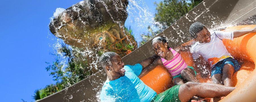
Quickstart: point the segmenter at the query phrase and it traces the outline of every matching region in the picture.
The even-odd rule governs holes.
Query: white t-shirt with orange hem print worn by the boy
[[[210,66],[214,66],[223,59],[232,57],[228,50],[225,48],[222,39],[233,40],[233,32],[213,31],[211,33],[211,41],[208,43],[196,42],[191,46],[190,52],[193,59],[203,56],[203,58],[209,62]],[[233,58],[233,57],[232,57]]]

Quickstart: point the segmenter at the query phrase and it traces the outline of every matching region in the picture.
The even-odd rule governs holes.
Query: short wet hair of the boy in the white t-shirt
[[[193,37],[194,39],[197,38],[197,34],[202,31],[206,26],[202,24],[201,22],[195,22],[190,25],[189,27],[189,33],[190,36]]]

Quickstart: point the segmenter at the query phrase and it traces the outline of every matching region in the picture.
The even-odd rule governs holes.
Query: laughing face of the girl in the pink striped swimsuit
[[[152,47],[156,53],[156,55],[160,56],[161,58],[165,58],[166,57],[166,53],[168,52],[168,44],[163,43],[163,42],[155,42],[152,44]]]

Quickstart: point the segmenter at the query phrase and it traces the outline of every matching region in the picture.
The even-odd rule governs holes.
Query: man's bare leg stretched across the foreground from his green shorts
[[[200,97],[223,97],[232,92],[235,87],[229,87],[214,83],[187,82],[179,88],[179,99],[181,102],[188,101],[193,96]]]

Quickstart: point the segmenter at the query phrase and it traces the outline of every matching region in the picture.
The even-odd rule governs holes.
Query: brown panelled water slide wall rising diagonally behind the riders
[[[165,29],[158,35],[172,38],[169,46],[174,47],[189,41],[189,26],[193,22],[202,22],[208,28],[216,29],[235,24],[256,25],[255,22],[246,22],[256,15],[255,0],[204,0],[197,7],[193,8],[177,22]],[[254,18],[255,19],[255,18]],[[252,23],[252,24],[251,24]],[[125,64],[136,64],[154,54],[151,41],[146,42],[122,60]],[[89,76],[88,78],[66,88],[60,92],[50,95],[39,102],[94,102],[98,101],[97,95],[100,94],[101,87],[106,80],[104,70]],[[230,98],[232,99],[232,98]],[[226,100],[236,101],[236,100]]]

